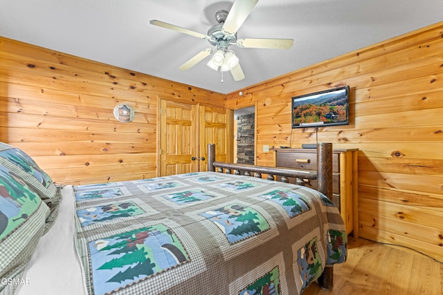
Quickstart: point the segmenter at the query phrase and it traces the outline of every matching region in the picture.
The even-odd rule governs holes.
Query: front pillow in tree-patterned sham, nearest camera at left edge
[[[12,294],[21,280],[49,208],[14,171],[0,165],[0,294]]]

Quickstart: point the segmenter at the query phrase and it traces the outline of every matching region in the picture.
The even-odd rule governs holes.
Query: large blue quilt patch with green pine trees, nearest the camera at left
[[[93,290],[105,294],[177,267],[189,260],[186,249],[164,225],[89,242]]]

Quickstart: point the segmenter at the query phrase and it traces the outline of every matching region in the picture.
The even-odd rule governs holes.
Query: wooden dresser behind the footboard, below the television
[[[316,149],[274,149],[274,166],[301,170],[317,169]],[[340,209],[346,232],[359,236],[358,227],[358,149],[340,149],[332,153],[332,202]],[[296,179],[289,179],[296,183]],[[316,180],[305,180],[305,187],[317,189]]]

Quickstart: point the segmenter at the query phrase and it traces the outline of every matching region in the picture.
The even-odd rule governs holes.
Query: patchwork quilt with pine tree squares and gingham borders
[[[89,294],[301,294],[347,256],[338,209],[295,184],[201,172],[73,191]]]

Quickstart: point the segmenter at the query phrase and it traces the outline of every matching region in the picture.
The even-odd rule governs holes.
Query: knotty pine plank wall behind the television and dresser
[[[344,85],[349,126],[291,130],[292,96]],[[360,236],[443,261],[443,22],[240,90],[226,107],[257,105],[257,164],[264,144],[358,148]]]

